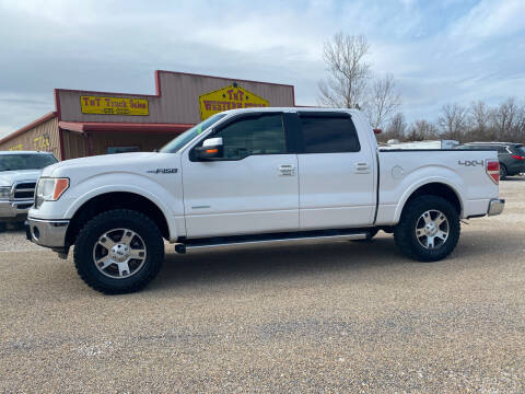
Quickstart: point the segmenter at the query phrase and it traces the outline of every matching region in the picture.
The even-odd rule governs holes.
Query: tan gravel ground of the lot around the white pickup
[[[117,297],[0,234],[22,251],[0,252],[0,391],[524,393],[525,182],[501,194],[505,212],[463,225],[441,263],[385,234],[170,247],[147,290]]]

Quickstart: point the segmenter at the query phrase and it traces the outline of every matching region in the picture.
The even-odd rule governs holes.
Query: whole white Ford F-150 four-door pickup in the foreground
[[[105,293],[143,288],[164,240],[175,251],[394,233],[409,257],[446,257],[459,220],[499,215],[494,151],[378,151],[352,109],[217,114],[151,153],[68,160],[44,170],[27,236]]]

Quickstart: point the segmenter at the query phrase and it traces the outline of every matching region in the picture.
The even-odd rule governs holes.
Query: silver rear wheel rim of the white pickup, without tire
[[[416,237],[419,244],[428,250],[443,246],[448,232],[448,220],[443,212],[435,209],[424,211],[416,222]]]

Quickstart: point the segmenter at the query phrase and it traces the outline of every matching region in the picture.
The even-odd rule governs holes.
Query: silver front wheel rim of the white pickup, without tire
[[[93,263],[105,276],[125,279],[137,274],[147,257],[142,237],[129,229],[114,229],[104,233],[93,247]]]

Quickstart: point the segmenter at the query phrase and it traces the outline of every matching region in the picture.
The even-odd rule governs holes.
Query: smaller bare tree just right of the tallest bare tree
[[[372,127],[383,127],[399,109],[401,97],[396,89],[393,74],[386,74],[372,83],[364,112]]]

